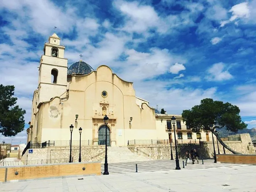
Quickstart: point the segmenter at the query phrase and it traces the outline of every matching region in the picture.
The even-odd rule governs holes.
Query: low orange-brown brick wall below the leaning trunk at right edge
[[[222,163],[234,164],[254,164],[256,165],[256,155],[240,155],[240,154],[216,154],[217,161]]]

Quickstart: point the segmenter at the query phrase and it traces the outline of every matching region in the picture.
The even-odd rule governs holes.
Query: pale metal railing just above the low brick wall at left
[[[0,162],[0,166],[43,165],[43,164],[55,164],[55,163],[68,163],[68,162],[69,162],[69,158],[2,161]]]

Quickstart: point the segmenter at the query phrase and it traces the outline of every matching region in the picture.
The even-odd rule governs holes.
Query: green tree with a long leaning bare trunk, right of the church
[[[213,101],[211,98],[205,98],[201,100],[200,105],[192,107],[191,110],[183,110],[182,118],[185,119],[186,125],[188,125],[193,132],[198,132],[203,129],[204,131],[211,131],[226,149],[234,154],[238,152],[227,146],[215,133],[214,130],[210,130],[210,125],[218,126],[218,128],[225,127],[232,132],[238,132],[240,129],[247,127],[247,124],[241,122],[239,115],[239,107],[231,105],[230,103],[223,103],[222,101]]]

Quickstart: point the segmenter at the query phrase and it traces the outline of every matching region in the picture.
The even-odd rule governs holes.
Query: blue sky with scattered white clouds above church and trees
[[[256,127],[256,0],[0,0],[0,83],[15,85],[30,121],[44,43],[56,33],[69,65],[105,64],[167,113],[206,97]],[[68,126],[68,125],[67,125]],[[26,132],[1,140],[26,142]]]

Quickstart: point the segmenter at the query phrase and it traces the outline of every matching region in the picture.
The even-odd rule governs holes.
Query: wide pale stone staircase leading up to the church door
[[[127,147],[108,147],[107,150],[108,163],[151,160],[143,154],[137,155],[137,153],[133,153]],[[101,160],[101,163],[105,163],[105,158]]]

